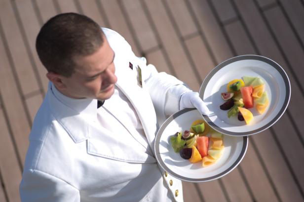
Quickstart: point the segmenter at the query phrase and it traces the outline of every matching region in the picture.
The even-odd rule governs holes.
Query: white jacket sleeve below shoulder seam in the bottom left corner
[[[25,170],[19,189],[21,202],[80,202],[75,187],[38,170]]]

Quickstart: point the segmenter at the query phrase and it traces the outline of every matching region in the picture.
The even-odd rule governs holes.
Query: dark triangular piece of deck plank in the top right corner
[[[302,45],[304,43],[304,7],[300,0],[280,0],[281,7],[292,23]],[[303,46],[302,46],[303,48]]]

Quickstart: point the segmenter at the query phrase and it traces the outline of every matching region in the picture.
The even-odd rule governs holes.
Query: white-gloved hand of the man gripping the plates
[[[182,94],[180,99],[180,110],[185,108],[196,108],[203,115],[210,114],[209,109],[199,97],[198,92],[188,91]]]

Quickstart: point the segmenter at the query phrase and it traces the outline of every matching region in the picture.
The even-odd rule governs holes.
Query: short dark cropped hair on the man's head
[[[48,72],[71,77],[76,56],[94,53],[103,44],[103,31],[87,16],[62,13],[49,19],[40,29],[36,50]]]

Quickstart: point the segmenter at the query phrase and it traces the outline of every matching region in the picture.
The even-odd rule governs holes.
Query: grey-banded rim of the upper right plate
[[[255,130],[251,130],[251,131],[247,131],[247,132],[232,132],[232,131],[225,130],[225,129],[221,128],[220,126],[216,125],[213,121],[211,121],[209,119],[208,115],[202,115],[203,120],[206,121],[213,129],[215,129],[216,131],[218,131],[220,133],[223,133],[226,135],[231,135],[231,136],[248,136],[248,135],[257,134],[257,133],[260,133],[260,132],[266,130],[267,128],[272,126],[276,121],[278,121],[281,118],[281,116],[283,116],[284,112],[286,111],[286,109],[288,107],[288,104],[290,101],[290,96],[291,96],[291,85],[290,85],[289,78],[288,78],[286,72],[284,71],[284,69],[278,63],[276,63],[275,61],[273,61],[265,56],[261,56],[261,55],[240,55],[240,56],[232,57],[232,58],[229,58],[228,60],[225,60],[224,62],[220,63],[219,65],[217,65],[215,68],[213,68],[209,72],[209,74],[207,75],[207,77],[204,79],[203,83],[200,86],[199,97],[201,99],[203,99],[205,88],[206,88],[208,82],[213,77],[213,75],[215,75],[220,69],[227,66],[228,64],[236,62],[236,61],[240,61],[240,60],[260,60],[260,61],[266,62],[271,67],[275,68],[283,78],[283,81],[284,81],[284,84],[286,87],[286,96],[285,96],[285,100],[284,100],[282,108],[271,121],[269,121],[268,123],[266,123],[264,126],[262,126],[260,128],[257,128]]]

